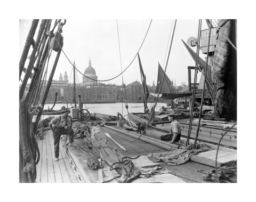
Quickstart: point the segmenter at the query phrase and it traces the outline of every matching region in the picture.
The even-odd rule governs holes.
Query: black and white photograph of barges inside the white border
[[[236,183],[236,27],[20,19],[20,182]]]

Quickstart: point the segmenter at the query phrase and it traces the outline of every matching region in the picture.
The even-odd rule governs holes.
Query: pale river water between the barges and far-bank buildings
[[[151,106],[153,107],[154,103],[148,103],[148,107],[150,108]],[[51,108],[53,104],[45,104],[44,109]],[[54,110],[59,110],[62,106],[67,107],[67,104],[65,103],[59,103],[55,104]],[[122,106],[123,106],[123,111],[122,111]],[[156,111],[159,111],[159,108],[165,106],[166,103],[157,103],[156,106]],[[71,105],[69,104],[69,108]],[[83,104],[83,108],[88,108],[89,112],[93,114],[94,112],[101,113],[101,114],[107,114],[107,115],[113,115],[116,116],[117,112],[121,113],[123,112],[123,116],[127,115],[127,110],[125,108],[125,104],[123,103],[95,103],[95,104]],[[128,111],[129,112],[143,112],[144,106],[143,103],[128,103]],[[42,118],[46,118],[47,115],[42,115]]]

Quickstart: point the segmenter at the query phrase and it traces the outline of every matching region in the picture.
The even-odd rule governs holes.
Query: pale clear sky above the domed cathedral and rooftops
[[[32,20],[19,20],[20,56],[26,42],[31,21]],[[121,73],[121,61],[123,70],[131,63],[142,44],[149,23],[150,19],[67,19],[66,25],[62,28],[62,36],[64,38],[63,51],[70,61],[75,61],[76,68],[81,72],[84,72],[85,68],[88,67],[89,60],[91,59],[92,67],[95,69],[98,79],[110,79]],[[172,32],[170,35],[171,28]],[[153,82],[155,82],[155,84],[157,83],[158,62],[163,69],[166,66],[173,28],[174,20],[172,19],[153,19],[151,22],[145,42],[139,51],[148,85],[152,85]],[[206,22],[203,20],[202,30],[207,28]],[[195,66],[194,60],[189,55],[181,42],[181,39],[187,42],[189,37],[197,37],[197,30],[198,20],[177,20],[170,58],[166,69],[167,76],[171,80],[173,79],[176,85],[181,85],[181,82],[188,84],[187,66]],[[121,61],[119,56],[118,31]],[[34,38],[36,38],[36,35]],[[167,47],[168,42],[169,46]],[[192,49],[196,52],[196,47],[192,47]],[[54,55],[56,54],[57,53],[55,52]],[[205,55],[201,54],[201,57],[204,59]],[[51,67],[52,64],[53,62],[50,59],[49,67]],[[65,71],[67,71],[69,82],[73,82],[73,74],[71,75],[71,70],[71,64],[66,56],[61,53],[53,79],[58,80],[60,73],[63,76]],[[135,80],[138,80],[141,83],[138,57],[135,58],[131,66],[123,74],[123,81],[125,84],[132,83]],[[78,82],[82,82],[82,75],[79,74],[79,72]],[[102,83],[121,85],[122,76]]]

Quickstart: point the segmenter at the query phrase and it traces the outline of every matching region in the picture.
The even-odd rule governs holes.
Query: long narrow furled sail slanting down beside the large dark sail
[[[188,52],[191,55],[191,57],[193,58],[193,60],[196,62],[196,53],[192,49],[190,49],[190,47],[183,40],[181,40],[181,41],[185,45],[186,49],[188,50]],[[199,71],[201,71],[202,74],[205,75],[206,62],[202,58],[198,57],[198,64],[199,64]],[[212,77],[211,77],[211,73],[210,73],[210,68],[207,68],[207,69],[208,69],[208,71],[206,73],[206,85],[209,90],[209,94],[210,94],[212,100],[214,101],[216,93],[214,92],[213,87],[212,87]]]

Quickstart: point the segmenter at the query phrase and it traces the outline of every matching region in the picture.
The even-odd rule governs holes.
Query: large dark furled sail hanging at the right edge
[[[237,120],[236,20],[220,20],[218,27],[212,70],[217,83],[215,116]]]

